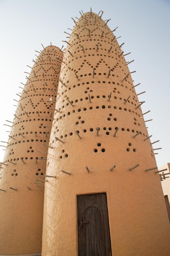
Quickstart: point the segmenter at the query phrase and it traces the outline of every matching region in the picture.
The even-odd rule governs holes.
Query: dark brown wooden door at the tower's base
[[[79,256],[112,256],[106,193],[78,195]]]

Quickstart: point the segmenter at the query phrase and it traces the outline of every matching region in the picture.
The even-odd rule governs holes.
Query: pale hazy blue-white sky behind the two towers
[[[0,141],[7,141],[9,130],[5,120],[13,121],[16,101],[21,92],[18,86],[25,83],[24,72],[29,72],[35,50],[53,45],[62,47],[64,31],[74,26],[71,17],[83,12],[104,11],[102,18],[110,19],[111,30],[118,26],[115,35],[121,36],[124,52],[131,52],[130,64],[136,92],[143,112],[150,110],[145,119],[148,133],[157,150],[157,166],[170,162],[170,0],[0,0]],[[5,143],[0,142],[1,145]],[[156,146],[155,146],[156,145]],[[0,147],[0,161],[4,150]]]

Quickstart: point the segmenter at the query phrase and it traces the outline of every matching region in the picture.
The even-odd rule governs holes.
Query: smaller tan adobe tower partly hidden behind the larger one
[[[0,255],[41,253],[44,175],[62,57],[58,47],[44,48],[9,123],[0,169]]]

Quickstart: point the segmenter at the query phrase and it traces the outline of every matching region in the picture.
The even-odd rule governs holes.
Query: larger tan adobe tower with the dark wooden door
[[[89,12],[75,23],[47,157],[55,178],[45,184],[42,256],[168,256],[170,223],[132,72],[102,18]]]

